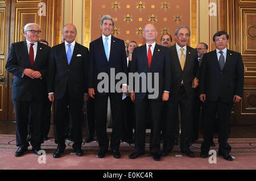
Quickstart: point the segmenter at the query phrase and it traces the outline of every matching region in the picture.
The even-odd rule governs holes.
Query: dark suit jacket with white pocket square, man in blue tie
[[[73,100],[81,100],[87,87],[88,48],[75,44],[71,62],[68,65],[65,43],[52,47],[49,62],[48,92],[54,92],[55,99],[63,98],[68,89]]]

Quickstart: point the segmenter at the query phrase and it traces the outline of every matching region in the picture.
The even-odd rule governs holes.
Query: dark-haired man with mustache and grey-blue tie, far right
[[[215,33],[213,41],[216,50],[204,54],[200,71],[200,100],[205,103],[201,158],[208,157],[217,111],[218,155],[233,161],[228,144],[229,120],[233,104],[240,102],[243,94],[243,62],[240,53],[227,49],[228,33]]]

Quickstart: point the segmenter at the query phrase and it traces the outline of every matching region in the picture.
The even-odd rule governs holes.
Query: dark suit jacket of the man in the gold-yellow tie
[[[195,96],[195,89],[192,88],[192,82],[195,77],[199,77],[199,63],[197,61],[196,49],[187,45],[186,60],[184,69],[181,69],[179,56],[177,54],[176,44],[171,48],[171,92],[176,96],[179,92],[181,81],[183,80],[185,92],[188,98]]]

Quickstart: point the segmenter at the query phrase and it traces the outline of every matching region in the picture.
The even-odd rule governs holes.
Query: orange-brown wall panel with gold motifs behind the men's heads
[[[125,40],[135,40],[144,44],[141,30],[145,24],[155,24],[158,31],[158,43],[162,33],[170,33],[180,25],[190,26],[190,1],[92,1],[91,40],[101,36],[100,18],[109,14],[115,20],[114,36]]]

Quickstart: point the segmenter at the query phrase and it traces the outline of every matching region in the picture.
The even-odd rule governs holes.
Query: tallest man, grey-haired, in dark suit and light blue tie
[[[114,81],[112,89],[114,89],[118,81],[110,80],[110,71],[114,70],[114,76],[118,73],[127,74],[127,62],[125,52],[125,42],[112,36],[114,27],[114,19],[105,15],[101,18],[100,28],[102,36],[90,43],[89,56],[89,96],[95,98],[95,119],[97,140],[100,146],[98,158],[105,157],[109,148],[109,138],[106,133],[108,98],[113,115],[113,128],[111,135],[110,148],[114,158],[120,158],[119,145],[122,134],[122,93],[117,90],[110,90],[111,81]],[[105,73],[109,77],[109,85],[105,85],[105,90],[98,89],[98,79],[100,73]],[[105,81],[105,80],[104,80]],[[121,90],[121,87],[120,89]],[[122,92],[127,91],[127,82],[122,84]]]

